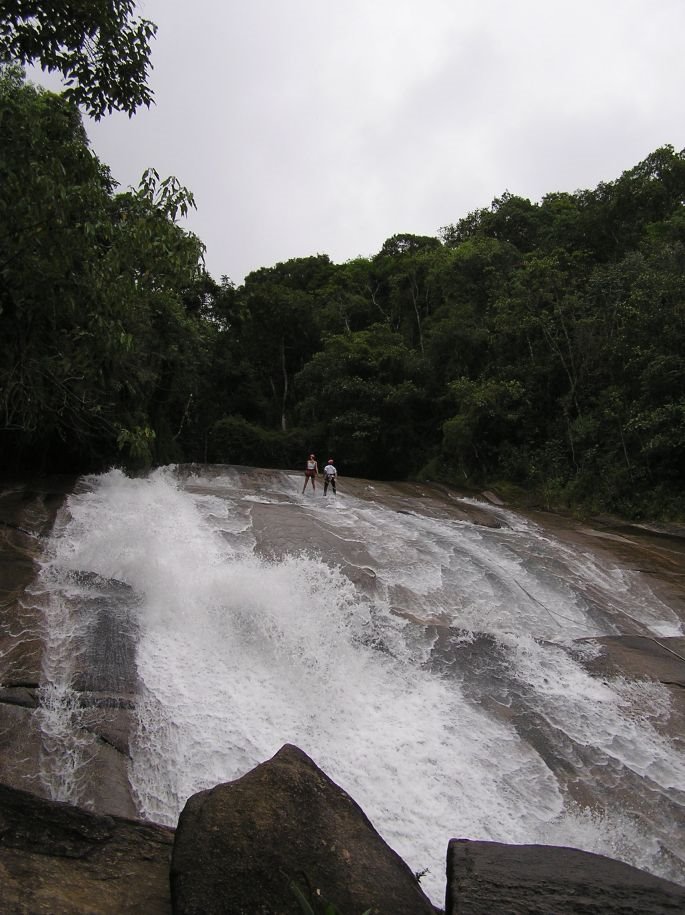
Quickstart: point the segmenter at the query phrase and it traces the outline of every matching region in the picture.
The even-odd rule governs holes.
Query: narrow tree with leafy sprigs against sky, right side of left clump
[[[147,172],[137,192],[111,202],[112,245],[101,254],[98,274],[103,303],[111,302],[129,335],[126,356],[110,366],[119,422],[127,427],[144,419],[155,434],[151,457],[162,463],[182,459],[176,442],[195,412],[211,358],[212,326],[194,307],[207,288],[204,246],[175,223],[193,205],[176,179]]]

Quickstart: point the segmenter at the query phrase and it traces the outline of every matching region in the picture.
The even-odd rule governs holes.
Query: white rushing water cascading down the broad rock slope
[[[429,870],[438,903],[453,836],[572,845],[685,883],[668,693],[593,677],[570,650],[679,635],[674,612],[504,509],[490,527],[420,499],[390,507],[382,487],[300,487],[232,468],[80,482],[39,579],[54,793],[78,800],[74,676],[97,625],[91,642],[102,627],[135,638],[144,817],[174,825],[191,794],[287,742]]]

